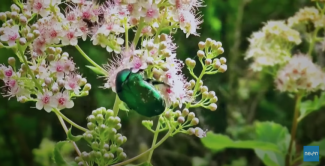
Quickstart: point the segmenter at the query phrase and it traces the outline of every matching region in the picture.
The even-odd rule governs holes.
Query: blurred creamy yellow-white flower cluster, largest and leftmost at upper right
[[[301,43],[298,31],[291,29],[284,21],[269,21],[261,31],[252,34],[245,59],[254,60],[255,71],[263,67],[282,65],[289,61],[291,49]]]

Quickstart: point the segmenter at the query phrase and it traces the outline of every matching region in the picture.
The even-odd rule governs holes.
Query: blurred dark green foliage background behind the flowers
[[[10,9],[11,0],[1,0],[0,12]],[[286,94],[275,91],[273,79],[261,73],[248,70],[249,62],[243,59],[248,47],[247,38],[259,30],[263,22],[286,19],[299,8],[311,6],[309,0],[207,0],[206,8],[201,8],[204,23],[198,31],[201,36],[188,39],[179,31],[175,35],[178,44],[177,54],[182,60],[194,58],[197,43],[212,38],[223,43],[228,71],[223,74],[207,76],[204,83],[214,90],[219,98],[215,112],[199,108],[194,111],[200,119],[200,127],[216,133],[228,134],[233,139],[252,137],[254,121],[275,121],[291,127],[293,100]],[[94,61],[106,63],[111,57],[99,46],[89,41],[80,47]],[[112,108],[114,93],[100,89],[104,83],[92,71],[85,68],[88,62],[73,47],[64,51],[74,58],[79,71],[91,83],[93,89],[89,96],[75,100],[75,107],[63,113],[76,123],[86,126],[86,116],[98,107]],[[304,51],[304,50],[302,50]],[[319,53],[319,56],[324,56]],[[0,63],[14,56],[11,50],[0,50]],[[324,64],[323,64],[324,65]],[[200,72],[200,67],[195,72]],[[184,73],[190,76],[184,69]],[[3,86],[3,83],[0,83]],[[20,104],[16,99],[0,97],[0,166],[51,165],[52,141],[66,139],[66,135],[53,113],[39,111],[35,103]],[[141,125],[144,118],[134,112],[120,112],[122,129],[127,136],[124,151],[129,157],[146,150],[152,141],[152,133]],[[325,137],[325,110],[309,115],[298,127],[298,145],[304,145]],[[75,129],[74,134],[80,134]],[[86,144],[80,145],[87,149]],[[298,146],[299,148],[299,146]],[[301,148],[301,147],[300,147]],[[66,156],[75,156],[71,147],[64,148]],[[324,161],[323,161],[324,163]],[[153,155],[155,166],[262,166],[253,150],[227,149],[213,153],[203,147],[199,138],[178,134],[169,138]],[[324,164],[323,164],[324,165]]]

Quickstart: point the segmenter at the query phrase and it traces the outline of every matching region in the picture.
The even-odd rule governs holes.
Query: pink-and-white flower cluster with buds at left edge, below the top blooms
[[[61,48],[49,47],[47,56],[36,58],[29,65],[23,63],[19,69],[16,69],[15,58],[10,57],[10,66],[0,65],[0,79],[6,88],[4,96],[17,97],[22,103],[36,101],[36,108],[47,112],[72,108],[71,98],[87,96],[91,85],[76,72],[69,54],[61,52]]]

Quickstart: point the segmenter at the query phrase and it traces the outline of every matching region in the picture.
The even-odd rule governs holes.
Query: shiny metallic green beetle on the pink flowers
[[[153,117],[164,112],[166,104],[154,85],[165,85],[163,82],[146,79],[131,69],[117,73],[115,79],[116,93],[127,108],[146,117]]]

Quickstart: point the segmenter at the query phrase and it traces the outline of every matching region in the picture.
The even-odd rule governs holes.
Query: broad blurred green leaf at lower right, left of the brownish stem
[[[284,166],[285,155],[287,154],[290,143],[288,129],[274,122],[257,122],[255,126],[256,140],[273,143],[281,152],[275,153],[270,150],[255,149],[256,155],[267,166]]]

